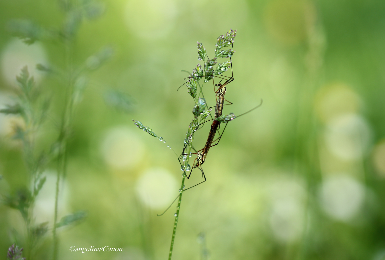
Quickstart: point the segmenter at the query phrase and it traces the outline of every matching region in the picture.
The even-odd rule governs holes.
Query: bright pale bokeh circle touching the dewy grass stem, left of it
[[[163,209],[177,195],[176,179],[166,169],[148,169],[137,180],[136,192],[144,205]]]

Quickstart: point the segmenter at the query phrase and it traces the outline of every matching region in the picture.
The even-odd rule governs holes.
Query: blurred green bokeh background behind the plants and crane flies
[[[73,64],[92,62],[104,46],[112,58],[87,75],[60,184],[59,219],[87,218],[59,230],[59,259],[166,259],[174,223],[181,153],[194,102],[176,89],[199,62],[196,42],[213,56],[219,35],[237,29],[235,80],[224,114],[257,110],[229,122],[203,165],[208,181],[184,193],[173,259],[385,259],[385,2],[380,0],[106,0],[104,14],[85,20]],[[15,76],[28,65],[51,97],[37,148],[57,138],[65,84],[35,69],[65,67],[54,41],[24,44],[12,19],[60,27],[57,1],[0,2],[0,105],[15,97]],[[91,57],[91,58],[89,58]],[[231,72],[226,72],[231,75]],[[215,104],[211,85],[204,94]],[[118,91],[118,92],[109,92]],[[127,98],[125,112],[108,93]],[[107,101],[107,102],[106,102]],[[162,136],[137,129],[131,119]],[[28,186],[23,150],[12,139],[15,116],[0,117],[2,195]],[[204,146],[209,127],[194,146]],[[194,158],[194,157],[193,157]],[[54,218],[55,163],[33,208],[36,223]],[[194,171],[186,187],[201,181]],[[0,206],[0,255],[23,244],[17,210]],[[200,234],[200,235],[199,235]],[[204,239],[203,239],[204,237]],[[122,247],[122,252],[70,252]],[[206,253],[208,252],[208,253]],[[51,230],[35,259],[51,259]]]

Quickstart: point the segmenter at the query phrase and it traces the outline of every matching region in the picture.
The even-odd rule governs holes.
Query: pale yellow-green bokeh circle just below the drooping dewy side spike
[[[131,169],[141,163],[144,144],[129,127],[113,127],[102,140],[101,153],[110,167]]]

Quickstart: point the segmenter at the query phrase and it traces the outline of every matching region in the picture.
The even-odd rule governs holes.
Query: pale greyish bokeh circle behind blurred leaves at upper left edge
[[[16,76],[24,66],[36,82],[39,82],[43,72],[36,69],[36,64],[47,66],[47,53],[40,42],[27,45],[19,39],[12,39],[2,50],[1,70],[5,81],[12,86],[17,86]]]

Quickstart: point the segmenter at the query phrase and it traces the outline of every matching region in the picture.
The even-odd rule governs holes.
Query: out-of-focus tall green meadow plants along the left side
[[[65,96],[62,97],[64,99],[62,116],[59,120],[53,119],[59,122],[57,139],[46,151],[37,149],[36,142],[39,141],[37,136],[41,134],[40,127],[49,114],[50,96],[55,93],[42,93],[39,87],[35,86],[34,78],[29,75],[27,66],[23,67],[20,75],[17,76],[19,88],[15,90],[18,97],[15,104],[9,104],[0,111],[7,115],[21,116],[23,119],[22,122],[13,126],[12,138],[22,143],[29,187],[20,188],[15,195],[4,195],[4,201],[6,205],[20,211],[25,221],[28,260],[33,259],[33,252],[39,239],[48,231],[49,223],[35,223],[35,216],[33,216],[35,199],[46,181],[44,171],[47,165],[54,164],[57,168],[55,204],[52,205],[54,209],[53,259],[58,257],[58,228],[79,222],[86,216],[84,211],[78,211],[58,221],[59,184],[61,178],[65,178],[66,175],[67,143],[72,136],[72,122],[76,108],[82,100],[87,85],[86,76],[89,72],[98,69],[112,55],[112,49],[105,47],[99,53],[88,57],[82,64],[75,64],[74,42],[80,26],[84,20],[100,17],[104,6],[93,0],[59,0],[58,3],[64,13],[64,20],[59,28],[44,28],[29,20],[12,20],[8,23],[10,32],[22,39],[25,44],[33,44],[35,41],[55,42],[65,56],[65,67],[36,64],[38,70],[49,74],[59,85],[64,82],[66,87]]]

